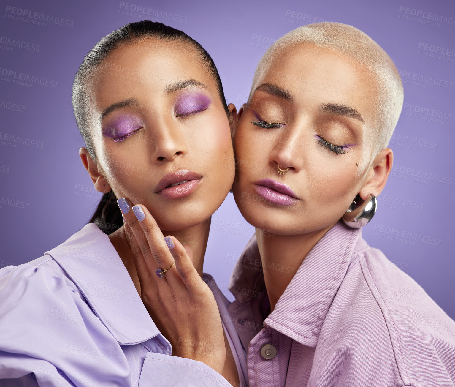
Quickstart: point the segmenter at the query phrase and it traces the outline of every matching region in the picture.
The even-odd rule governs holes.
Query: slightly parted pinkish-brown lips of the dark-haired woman
[[[182,198],[192,193],[201,179],[202,175],[200,173],[188,171],[187,169],[179,169],[176,172],[166,173],[157,184],[155,193],[169,199]],[[170,184],[175,184],[183,180],[188,181],[174,187],[166,188]]]

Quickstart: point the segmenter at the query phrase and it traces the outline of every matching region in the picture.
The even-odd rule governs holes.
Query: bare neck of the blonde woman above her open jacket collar
[[[275,309],[279,298],[310,250],[334,225],[298,235],[270,235],[256,229],[270,312]]]

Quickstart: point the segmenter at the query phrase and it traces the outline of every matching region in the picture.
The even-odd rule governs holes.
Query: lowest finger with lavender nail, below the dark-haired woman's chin
[[[199,282],[199,280],[201,280],[201,277],[197,273],[197,270],[195,269],[188,254],[189,252],[192,255],[191,246],[189,244],[185,244],[185,247],[183,247],[177,238],[173,237],[172,235],[168,235],[164,239],[169,248],[169,251],[172,254],[172,257],[175,260],[177,273],[180,275],[180,278],[188,289],[193,288]]]

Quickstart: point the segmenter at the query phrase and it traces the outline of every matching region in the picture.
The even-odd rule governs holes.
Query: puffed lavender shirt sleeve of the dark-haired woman
[[[63,276],[29,264],[0,270],[0,379],[19,379],[11,386],[131,385],[125,354],[90,306]]]

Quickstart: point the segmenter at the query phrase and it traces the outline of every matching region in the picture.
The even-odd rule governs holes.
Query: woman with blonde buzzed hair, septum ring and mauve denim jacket
[[[362,238],[402,105],[394,63],[350,25],[299,27],[259,62],[233,183],[256,234],[228,308],[251,387],[455,385],[455,322]]]

